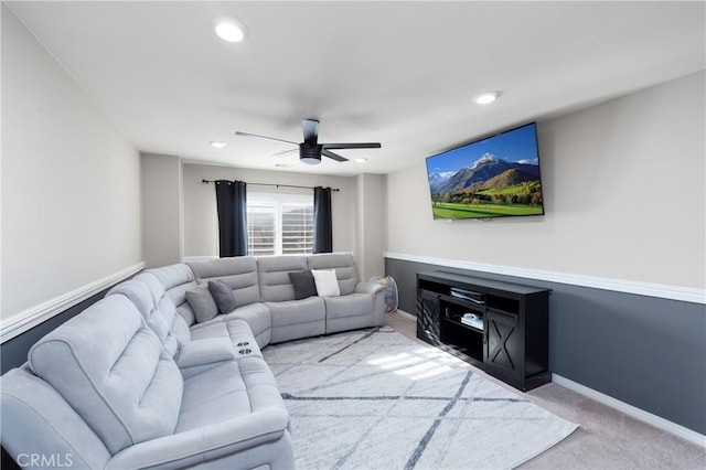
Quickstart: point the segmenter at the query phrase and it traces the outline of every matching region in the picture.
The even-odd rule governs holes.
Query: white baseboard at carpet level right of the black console
[[[653,415],[652,413],[648,413],[644,409],[637,408],[624,402],[616,399],[612,396],[605,395],[600,392],[597,392],[592,388],[587,387],[586,385],[581,385],[577,382],[563,377],[558,374],[552,374],[552,382],[554,382],[557,385],[561,385],[563,387],[566,387],[568,389],[571,389],[576,393],[579,393],[584,396],[587,396],[591,399],[595,399],[596,402],[601,403],[606,406],[609,406],[613,409],[617,409],[620,413],[623,413],[632,418],[635,418],[640,421],[652,425],[655,428],[671,432],[675,436],[681,437],[682,439],[688,440],[689,442],[696,444],[698,446],[706,447],[706,436],[704,436],[703,434],[685,428],[684,426],[677,425],[676,423],[672,423],[668,419],[664,419],[660,416]]]

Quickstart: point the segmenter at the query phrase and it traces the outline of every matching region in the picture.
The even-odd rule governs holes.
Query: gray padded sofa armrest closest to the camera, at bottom
[[[275,441],[285,434],[288,423],[284,408],[264,407],[249,415],[130,446],[116,453],[106,469],[191,467]]]

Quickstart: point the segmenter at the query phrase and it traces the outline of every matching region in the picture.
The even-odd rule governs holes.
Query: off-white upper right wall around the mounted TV
[[[389,253],[704,288],[704,72],[538,122],[545,216],[434,221],[425,156],[387,177]]]

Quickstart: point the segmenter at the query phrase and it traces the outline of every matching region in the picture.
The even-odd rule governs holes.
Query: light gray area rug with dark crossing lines
[[[263,353],[300,470],[509,469],[578,427],[387,327]]]

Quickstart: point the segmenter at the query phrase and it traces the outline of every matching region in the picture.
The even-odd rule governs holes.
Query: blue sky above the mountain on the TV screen
[[[470,167],[486,153],[509,162],[539,164],[535,124],[429,157],[427,171],[429,174],[456,173],[463,167]]]

